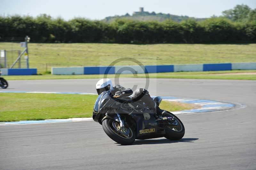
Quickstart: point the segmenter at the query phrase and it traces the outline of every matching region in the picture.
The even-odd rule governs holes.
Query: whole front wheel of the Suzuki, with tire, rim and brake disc
[[[125,126],[120,127],[120,123],[113,119],[102,121],[102,128],[113,141],[122,145],[130,145],[135,141],[136,134],[132,128]]]

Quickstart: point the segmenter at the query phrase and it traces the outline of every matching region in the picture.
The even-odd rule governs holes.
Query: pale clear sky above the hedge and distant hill
[[[196,18],[220,16],[222,11],[246,4],[256,8],[256,0],[0,0],[0,15],[30,15],[46,13],[65,20],[74,17],[104,19],[108,16],[144,11],[187,15]]]

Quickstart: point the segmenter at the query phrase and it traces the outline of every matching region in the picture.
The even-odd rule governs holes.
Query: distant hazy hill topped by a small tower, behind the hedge
[[[155,13],[155,12],[147,12],[144,11],[143,8],[140,8],[139,12],[133,12],[132,15],[130,15],[129,13],[126,13],[125,15],[116,15],[116,16],[110,16],[110,17],[106,17],[105,19],[103,19],[102,21],[104,22],[108,22],[111,23],[113,22],[115,19],[134,19],[134,20],[140,20],[140,21],[149,21],[149,20],[155,20],[155,21],[164,21],[166,19],[172,19],[173,21],[177,21],[177,22],[181,22],[183,20],[187,20],[187,19],[194,19],[196,21],[201,21],[204,20],[206,18],[194,18],[194,17],[188,17],[188,16],[178,16],[178,15],[172,15],[172,14],[164,14],[164,13]]]

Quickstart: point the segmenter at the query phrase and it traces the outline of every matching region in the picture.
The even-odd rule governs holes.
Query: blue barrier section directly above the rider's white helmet
[[[107,72],[106,72],[107,71]],[[84,67],[84,74],[115,74],[115,67]]]

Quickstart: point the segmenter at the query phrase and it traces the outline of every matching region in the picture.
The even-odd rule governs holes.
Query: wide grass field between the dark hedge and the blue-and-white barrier
[[[256,44],[29,43],[28,47],[30,68],[37,68],[38,73],[60,66],[108,66],[120,57],[136,58],[143,65],[256,62]],[[0,49],[21,47],[19,43],[0,43]]]

